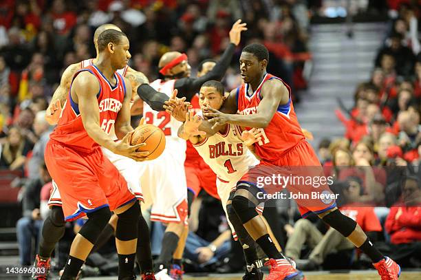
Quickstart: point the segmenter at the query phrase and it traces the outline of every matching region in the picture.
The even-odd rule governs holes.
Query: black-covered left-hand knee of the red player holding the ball
[[[99,210],[88,213],[87,222],[79,230],[79,234],[85,237],[91,244],[95,244],[102,230],[107,226],[111,218],[109,207],[103,207]]]

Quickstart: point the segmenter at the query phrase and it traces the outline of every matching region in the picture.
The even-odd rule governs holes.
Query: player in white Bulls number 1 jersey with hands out
[[[261,133],[256,129],[243,131],[233,125],[226,125],[215,135],[206,137],[206,133],[197,131],[202,122],[202,113],[207,108],[218,109],[224,103],[224,86],[215,80],[204,83],[199,91],[199,106],[202,112],[193,116],[193,111],[186,114],[186,122],[180,127],[180,138],[190,140],[193,147],[204,159],[210,168],[217,174],[217,191],[221,197],[222,206],[226,213],[230,228],[237,233],[243,246],[244,255],[248,264],[248,270],[243,279],[261,280],[263,273],[259,270],[263,263],[259,261],[255,250],[255,242],[246,232],[233,209],[230,208],[230,193],[235,191],[237,182],[248,172],[250,166],[259,164],[259,160],[253,155],[248,147],[261,140]],[[199,135],[197,135],[199,134]],[[228,206],[228,207],[227,207]],[[268,227],[268,229],[270,229]],[[237,237],[237,236],[235,236]],[[274,239],[274,237],[272,237]],[[245,246],[247,244],[250,246]],[[276,239],[274,239],[276,240]]]

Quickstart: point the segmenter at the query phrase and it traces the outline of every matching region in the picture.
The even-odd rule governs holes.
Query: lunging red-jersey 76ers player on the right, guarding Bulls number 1
[[[290,87],[280,78],[266,72],[268,59],[268,50],[263,45],[252,44],[244,47],[239,60],[244,84],[231,91],[221,111],[209,108],[212,112],[205,116],[212,120],[202,122],[200,130],[212,135],[226,123],[247,129],[256,127],[261,130],[263,136],[261,142],[255,143],[255,153],[261,158],[258,168],[264,169],[265,166],[321,168],[316,153],[305,141],[296,118]],[[237,111],[239,114],[236,114]],[[296,186],[292,186],[290,191],[294,191],[294,188]],[[321,186],[319,192],[328,191],[326,188],[327,186]],[[271,258],[268,262],[271,270],[266,279],[303,279],[302,272],[292,268],[285,257],[277,251],[269,238],[265,224],[254,211],[254,207],[262,201],[258,197],[259,193],[261,189],[244,177],[237,184],[232,206],[248,233]],[[338,230],[371,257],[382,279],[398,278],[400,274],[398,264],[382,255],[371,244],[360,226],[338,210],[333,199],[312,200],[311,204],[306,200],[296,200],[296,202],[304,217],[310,212],[316,213],[325,223]]]

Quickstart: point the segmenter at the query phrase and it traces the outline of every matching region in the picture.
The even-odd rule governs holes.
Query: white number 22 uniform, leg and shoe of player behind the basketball
[[[174,90],[175,80],[155,80],[151,83],[156,91],[171,94]],[[165,111],[154,111],[147,103],[143,105],[143,117],[147,123],[160,127],[165,134],[165,149],[159,158],[142,164],[143,170],[140,182],[142,186],[149,186],[152,200],[151,220],[167,224],[164,234],[165,239],[170,239],[171,244],[177,245],[177,240],[187,226],[187,186],[184,172],[186,159],[186,141],[177,136],[177,131],[182,122],[175,120]],[[158,277],[169,277],[161,270],[169,269],[173,250],[168,250],[164,241],[161,255],[158,258],[155,272]],[[164,278],[165,277],[165,278]]]

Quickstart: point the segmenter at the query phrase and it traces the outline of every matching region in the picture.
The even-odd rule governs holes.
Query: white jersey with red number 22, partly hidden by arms
[[[164,80],[158,79],[149,85],[156,91],[160,91],[171,97],[174,84],[175,80],[165,82]],[[166,111],[154,111],[147,103],[143,103],[143,117],[147,123],[155,125],[164,131],[166,140],[164,153],[166,151],[173,151],[176,154],[182,153],[184,157],[186,156],[186,140],[177,136],[178,129],[183,124],[182,122],[175,120]]]

